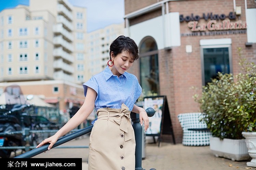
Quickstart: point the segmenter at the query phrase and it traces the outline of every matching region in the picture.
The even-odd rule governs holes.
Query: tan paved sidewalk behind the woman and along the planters
[[[89,136],[85,135],[63,144],[63,146],[88,146]],[[82,169],[87,170],[88,148],[54,148],[46,153],[41,153],[33,158],[82,158]],[[247,167],[248,161],[232,161],[221,157],[215,157],[209,146],[188,147],[182,144],[162,142],[146,144],[145,158],[142,160],[142,168],[150,170],[246,170],[256,168]]]

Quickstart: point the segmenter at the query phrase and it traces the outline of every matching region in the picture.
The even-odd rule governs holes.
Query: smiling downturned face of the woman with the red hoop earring
[[[114,65],[110,67],[110,70],[114,75],[117,75],[118,77],[121,74],[124,74],[124,72],[127,71],[134,62],[133,57],[128,51],[123,51],[116,56],[114,56],[114,53],[111,52],[111,58],[114,62]]]

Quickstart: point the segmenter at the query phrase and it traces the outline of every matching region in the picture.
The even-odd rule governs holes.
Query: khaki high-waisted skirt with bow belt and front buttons
[[[130,111],[100,108],[90,134],[88,170],[134,170],[135,137]]]

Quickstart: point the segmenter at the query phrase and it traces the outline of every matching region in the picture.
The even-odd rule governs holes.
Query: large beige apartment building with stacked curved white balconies
[[[67,0],[30,0],[0,12],[0,94],[17,84],[65,113],[82,104],[86,8]]]

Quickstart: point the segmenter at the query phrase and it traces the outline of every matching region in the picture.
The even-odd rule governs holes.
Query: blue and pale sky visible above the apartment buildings
[[[124,22],[124,0],[68,1],[74,6],[86,8],[87,32]],[[5,8],[14,8],[18,4],[29,5],[29,0],[0,0],[0,12]]]

